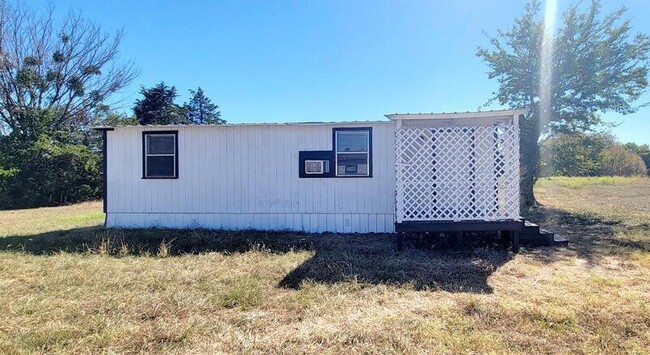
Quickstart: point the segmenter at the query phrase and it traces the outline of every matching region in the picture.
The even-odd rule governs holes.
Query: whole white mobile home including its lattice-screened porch
[[[390,233],[490,222],[517,229],[523,113],[99,127],[106,226]]]

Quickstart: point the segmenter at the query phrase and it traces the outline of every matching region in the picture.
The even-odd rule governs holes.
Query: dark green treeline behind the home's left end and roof
[[[189,102],[176,104],[176,88],[160,83],[141,88],[133,116],[106,105],[90,111],[87,122],[53,129],[56,109],[34,109],[18,117],[22,131],[0,135],[0,209],[55,206],[102,196],[101,139],[98,125],[223,124],[226,121],[201,88]],[[30,127],[33,125],[33,127]]]

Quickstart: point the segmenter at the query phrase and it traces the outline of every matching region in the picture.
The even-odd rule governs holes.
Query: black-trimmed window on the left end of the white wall
[[[143,132],[142,177],[175,179],[178,177],[178,132]]]

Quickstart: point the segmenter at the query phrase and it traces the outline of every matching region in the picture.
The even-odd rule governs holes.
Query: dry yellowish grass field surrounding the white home
[[[645,353],[650,181],[549,178],[567,248],[388,235],[102,230],[0,211],[0,353]]]

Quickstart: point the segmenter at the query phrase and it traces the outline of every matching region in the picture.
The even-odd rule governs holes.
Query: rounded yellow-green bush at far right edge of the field
[[[646,175],[647,168],[641,157],[620,145],[606,147],[600,153],[600,175]]]

